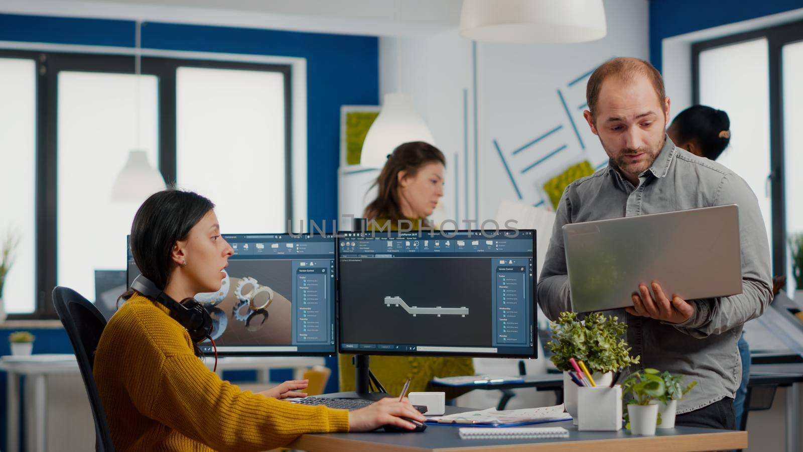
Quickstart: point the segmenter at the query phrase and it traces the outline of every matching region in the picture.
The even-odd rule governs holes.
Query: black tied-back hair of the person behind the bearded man
[[[694,105],[672,120],[670,127],[679,143],[696,142],[703,157],[716,160],[731,142],[728,113],[705,105]]]

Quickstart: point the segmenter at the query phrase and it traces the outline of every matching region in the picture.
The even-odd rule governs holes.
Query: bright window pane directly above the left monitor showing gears
[[[177,184],[217,204],[223,232],[285,232],[284,78],[178,68]]]

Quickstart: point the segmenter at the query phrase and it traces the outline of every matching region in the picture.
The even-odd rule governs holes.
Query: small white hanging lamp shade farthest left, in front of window
[[[114,179],[112,202],[141,203],[148,196],[165,189],[165,179],[148,163],[144,150],[132,150],[128,161]]]

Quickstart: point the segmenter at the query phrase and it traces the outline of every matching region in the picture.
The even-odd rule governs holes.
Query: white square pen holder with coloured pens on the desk
[[[622,386],[577,388],[577,429],[622,429]]]

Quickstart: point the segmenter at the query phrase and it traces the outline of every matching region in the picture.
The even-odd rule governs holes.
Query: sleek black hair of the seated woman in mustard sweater
[[[213,208],[214,203],[202,195],[176,188],[158,191],[145,199],[131,224],[131,253],[142,276],[165,289],[176,265],[171,257],[173,246],[186,240],[195,224]],[[118,303],[133,294],[128,290],[120,295]],[[199,353],[195,347],[195,354]]]

